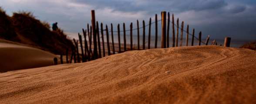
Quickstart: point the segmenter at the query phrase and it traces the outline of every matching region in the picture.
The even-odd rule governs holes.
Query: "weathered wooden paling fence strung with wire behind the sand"
[[[189,33],[189,25],[187,25],[187,29],[184,30],[184,22],[182,21],[181,27],[179,27],[179,18],[177,19],[177,23],[175,24],[174,21],[174,15],[172,14],[172,21],[170,21],[170,13],[168,12],[167,19],[166,19],[166,12],[161,13],[162,19],[158,20],[157,19],[157,14],[155,14],[155,48],[157,48],[157,38],[158,38],[158,22],[162,21],[162,37],[161,37],[161,48],[168,48],[169,47],[169,29],[170,29],[170,23],[172,23],[172,47],[177,47],[178,46],[178,41],[179,41],[179,29],[181,30],[180,32],[180,46],[182,46],[182,39],[183,39],[183,32],[186,33],[186,39],[185,39],[185,46],[188,46],[189,42],[189,35],[192,36],[191,40],[191,46],[194,46],[194,39],[198,40],[198,46],[202,44],[208,45],[209,38],[210,36],[207,36],[207,39],[205,42],[202,42],[202,32],[199,32],[198,38],[195,36],[195,29],[192,30],[192,34]],[[139,42],[139,29],[143,29],[143,34],[142,34],[142,49],[150,49],[150,39],[151,39],[151,25],[153,24],[151,22],[151,18],[149,19],[149,24],[146,25],[149,27],[149,32],[148,32],[148,47],[145,47],[145,21],[143,20],[143,26],[139,27],[139,22],[137,20],[137,28],[133,29],[133,24],[130,24],[130,29],[126,30],[125,29],[125,23],[123,23],[123,31],[120,31],[120,25],[118,24],[117,31],[113,31],[113,25],[111,23],[111,29],[108,29],[108,25],[105,26],[105,29],[103,27],[103,24],[101,23],[101,28],[99,28],[98,21],[95,22],[95,15],[94,15],[94,10],[91,10],[91,17],[92,17],[92,26],[89,27],[89,24],[87,25],[87,29],[82,29],[83,30],[83,37],[84,37],[84,42],[82,41],[82,35],[78,33],[79,37],[79,43],[80,43],[80,50],[79,51],[79,44],[78,40],[73,39],[75,48],[72,49],[72,54],[71,57],[68,57],[68,50],[66,54],[66,62],[71,63],[73,62],[72,59],[74,58],[74,63],[76,62],[87,62],[91,61],[97,58],[105,57],[107,55],[115,54],[117,51],[115,48],[115,42],[114,42],[114,32],[118,33],[118,53],[129,51],[129,50],[140,50],[140,42]],[[166,20],[167,20],[167,28],[166,28]],[[175,27],[176,27],[176,37],[175,37]],[[111,31],[111,40],[109,36],[109,32]],[[137,30],[137,36],[138,36],[138,47],[133,46],[133,39],[132,39],[132,31]],[[107,40],[104,40],[104,31],[105,31],[105,36]],[[130,31],[130,46],[126,46],[126,31]],[[120,42],[120,32],[123,32],[123,37],[124,37],[124,43],[122,44],[123,47],[121,47],[121,42]],[[101,34],[101,36],[100,36]],[[87,39],[88,36],[88,39]],[[101,40],[100,40],[101,37]],[[87,41],[88,40],[88,41]],[[224,46],[229,47],[230,45],[230,40],[231,38],[226,37]],[[101,41],[101,42],[100,42]],[[112,43],[112,44],[110,44]],[[106,48],[105,49],[105,44]],[[216,40],[214,39],[212,41],[211,45],[217,45]],[[93,46],[93,49],[92,49]],[[221,45],[220,45],[221,46]],[[121,50],[123,48],[124,51]],[[102,51],[101,51],[102,49]],[[101,53],[102,52],[102,53]],[[81,60],[80,60],[81,58]],[[62,55],[61,55],[61,63],[62,61]]]

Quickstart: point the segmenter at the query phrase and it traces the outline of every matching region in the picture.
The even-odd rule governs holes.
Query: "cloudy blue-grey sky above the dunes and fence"
[[[0,6],[9,16],[25,10],[41,21],[58,22],[66,32],[81,33],[87,28],[91,10],[104,26],[113,23],[114,31],[118,23],[122,29],[123,23],[128,28],[132,22],[135,28],[136,20],[142,26],[142,20],[148,24],[151,17],[154,22],[155,14],[159,20],[161,11],[166,11],[174,14],[175,21],[179,18],[184,26],[189,24],[191,33],[193,28],[196,35],[202,31],[202,38],[256,39],[256,0],[1,0]]]

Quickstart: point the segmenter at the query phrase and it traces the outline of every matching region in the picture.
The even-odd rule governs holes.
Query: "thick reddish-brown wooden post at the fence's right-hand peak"
[[[162,38],[161,38],[161,48],[166,48],[166,12],[162,13]]]

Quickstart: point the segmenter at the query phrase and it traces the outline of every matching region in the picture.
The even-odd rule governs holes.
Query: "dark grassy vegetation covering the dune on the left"
[[[48,22],[40,22],[31,12],[20,11],[10,17],[0,8],[0,38],[39,46],[55,54],[65,54],[66,49],[74,47],[63,30],[50,29]]]

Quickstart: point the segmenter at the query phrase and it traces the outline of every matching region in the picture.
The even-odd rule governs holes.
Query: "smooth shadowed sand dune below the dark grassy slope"
[[[54,57],[40,49],[0,43],[0,72],[53,65]]]

